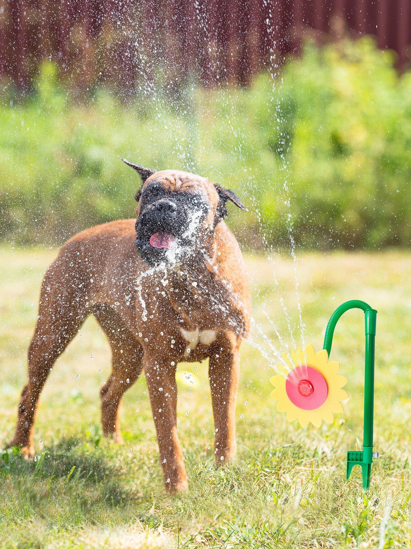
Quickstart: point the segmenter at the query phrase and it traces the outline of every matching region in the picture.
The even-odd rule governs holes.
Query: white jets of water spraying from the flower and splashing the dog
[[[277,12],[275,10],[275,6],[272,4],[272,2],[270,2],[270,0],[266,0],[265,8],[267,8],[268,16],[265,19],[264,23],[267,27],[267,34],[271,37],[266,68],[271,75],[272,85],[272,97],[269,104],[267,104],[267,109],[272,111],[273,125],[277,126],[278,133],[281,133],[279,132],[279,128],[284,126],[286,118],[282,111],[282,105],[278,100],[278,89],[282,86],[280,67],[282,65],[283,59],[280,57],[281,54],[279,53],[280,44],[278,44],[275,40],[275,36],[277,34],[276,25],[278,24],[278,21],[276,20]],[[209,25],[209,11],[204,8],[203,3],[197,2],[197,0],[193,4],[193,9],[195,10],[195,17],[198,22],[199,32],[202,34],[203,40],[207,44],[209,44],[209,69],[213,72],[213,74],[218,75],[219,58],[224,52],[219,51],[218,46],[216,46],[217,42],[216,40],[214,40],[215,37],[210,35],[209,28],[212,27],[212,25]],[[153,24],[156,25],[155,22]],[[136,31],[136,29],[134,29],[134,31]],[[150,104],[154,107],[158,120],[158,126],[163,127],[165,131],[168,131],[171,128],[167,128],[167,122],[165,118],[165,111],[167,107],[165,106],[166,102],[164,98],[164,87],[159,85],[156,79],[153,78],[153,74],[155,74],[156,71],[156,63],[158,64],[158,59],[156,60],[156,55],[152,55],[152,52],[150,52],[150,47],[152,46],[152,44],[145,43],[145,36],[141,35],[141,33],[139,32],[136,32],[136,35],[138,36],[138,38],[135,42],[135,46],[136,52],[138,53],[139,57],[141,79],[144,82],[143,92],[146,94],[147,99],[149,99]],[[165,63],[167,65],[167,59],[162,59],[162,63]],[[170,63],[172,63],[172,61],[170,61]],[[164,72],[168,71],[169,69],[170,72],[172,72],[173,67],[164,66]],[[257,181],[255,176],[248,171],[247,158],[246,154],[244,153],[244,144],[247,143],[248,136],[246,135],[245,130],[242,130],[236,125],[236,113],[234,111],[235,102],[231,100],[232,98],[230,97],[230,88],[223,89],[224,85],[220,85],[219,81],[216,82],[216,85],[219,88],[220,92],[224,91],[224,93],[222,93],[221,95],[221,99],[224,105],[226,128],[231,132],[233,148],[236,150],[237,157],[241,160],[244,181],[243,191],[248,194],[250,201],[253,203],[254,195],[256,194],[255,191],[256,189],[258,189],[261,182]],[[168,139],[170,140],[170,145],[173,150],[176,164],[175,166],[170,167],[179,167],[181,169],[195,172],[199,165],[199,159],[202,155],[203,145],[198,138],[199,124],[198,117],[196,115],[195,101],[193,100],[193,89],[193,86],[188,83],[186,85],[185,100],[182,102],[179,100],[178,102],[176,102],[179,104],[175,105],[175,107],[179,110],[180,116],[184,117],[186,127],[189,127],[189,131],[169,131]],[[152,128],[149,135],[149,143],[154,149],[158,146],[157,138],[157,127]],[[286,344],[287,338],[284,337],[284,335],[281,335],[280,330],[277,327],[277,323],[275,322],[275,316],[278,316],[277,311],[282,311],[283,318],[286,321],[286,326],[292,348],[296,349],[297,346],[300,346],[300,341],[302,343],[302,346],[305,346],[305,326],[304,322],[302,321],[302,309],[298,279],[298,258],[296,255],[295,239],[293,234],[293,219],[291,212],[293,198],[293,181],[288,169],[287,150],[284,137],[282,139],[279,139],[279,145],[276,154],[280,160],[279,181],[277,180],[275,183],[271,183],[271,185],[267,184],[268,182],[264,182],[264,187],[271,188],[271,192],[276,193],[276,195],[278,196],[278,200],[281,200],[282,204],[284,205],[284,208],[281,209],[281,215],[285,216],[288,238],[288,254],[293,262],[295,305],[293,305],[292,308],[294,309],[295,307],[296,311],[298,312],[299,325],[295,326],[293,324],[293,315],[291,314],[289,306],[286,305],[286,302],[284,300],[284,291],[279,284],[278,273],[276,271],[276,256],[278,257],[279,250],[272,249],[272,245],[270,244],[270,235],[267,234],[266,229],[262,226],[261,215],[255,204],[254,208],[259,219],[259,232],[262,243],[262,251],[265,253],[270,261],[271,277],[276,288],[275,295],[276,299],[278,300],[278,306],[276,307],[275,304],[270,305],[270,309],[267,309],[266,305],[263,306],[265,326],[262,326],[262,324],[256,318],[253,318],[252,333],[250,334],[248,343],[260,352],[261,356],[270,367],[276,368],[275,365],[279,362],[282,364],[282,366],[285,366],[288,369],[288,365],[286,365],[281,356],[282,352],[284,351],[288,353]],[[210,166],[210,169],[211,168],[212,166]],[[190,227],[187,230],[188,234],[185,235],[185,238],[189,239],[190,236],[195,233],[198,227],[198,222],[199,218],[197,219],[196,215],[194,215],[190,222]],[[181,258],[182,254],[185,253],[185,251],[186,250],[182,249],[182,247],[180,247],[177,243],[173,243],[167,251],[167,259],[170,264],[168,268],[172,268]],[[283,253],[283,250],[281,251]],[[136,281],[136,289],[143,310],[143,320],[147,319],[147,310],[145,300],[141,295],[141,282],[142,279],[144,279],[145,277],[154,276],[157,272],[163,272],[164,277],[166,277],[167,269],[165,265],[158,265],[156,267],[148,269],[147,271],[141,273]],[[215,306],[221,307],[221,304],[215,303]],[[267,330],[267,324],[269,326],[269,330]],[[267,335],[267,331],[270,332],[270,337],[269,335]],[[275,334],[275,338],[271,339],[273,334]]]

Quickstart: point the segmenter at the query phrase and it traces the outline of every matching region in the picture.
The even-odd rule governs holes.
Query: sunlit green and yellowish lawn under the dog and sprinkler
[[[12,435],[39,284],[56,249],[2,250],[0,267],[0,428]],[[248,257],[254,317],[278,351],[302,344],[293,264]],[[273,281],[276,274],[278,285]],[[270,399],[271,356],[242,347],[238,461],[213,464],[213,422],[206,365],[180,365],[179,434],[190,491],[168,496],[144,379],[125,394],[124,446],[101,438],[99,388],[110,372],[104,335],[89,319],[56,363],[42,394],[34,461],[13,451],[0,459],[1,547],[409,547],[409,285],[411,255],[307,254],[299,259],[305,340],[322,346],[328,317],[346,299],[379,310],[376,337],[375,460],[372,484],[359,469],[345,478],[345,452],[361,448],[363,315],[346,313],[332,357],[351,395],[333,424],[289,424]],[[289,317],[284,315],[282,296]],[[280,344],[270,319],[284,340]],[[269,351],[264,346],[266,352]],[[383,541],[381,540],[383,533]]]

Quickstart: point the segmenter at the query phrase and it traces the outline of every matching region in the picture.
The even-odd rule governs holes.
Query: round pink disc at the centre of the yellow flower
[[[297,366],[286,379],[288,398],[302,410],[315,410],[327,399],[328,386],[323,375],[311,366]]]

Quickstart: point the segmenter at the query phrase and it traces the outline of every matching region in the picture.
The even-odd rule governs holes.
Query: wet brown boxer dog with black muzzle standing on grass
[[[100,391],[103,432],[122,441],[119,404],[144,368],[165,486],[181,491],[187,477],[176,429],[179,361],[209,357],[215,459],[221,464],[236,454],[238,351],[249,331],[250,292],[241,251],[223,218],[227,200],[246,208],[204,177],[125,162],[143,181],[137,219],[77,234],[45,273],[10,445],[33,453],[45,380],[93,314],[112,352],[112,373]]]

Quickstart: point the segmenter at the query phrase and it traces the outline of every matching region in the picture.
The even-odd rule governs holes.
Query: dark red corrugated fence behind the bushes
[[[113,83],[124,93],[162,71],[170,86],[247,83],[298,52],[306,32],[366,33],[410,58],[411,0],[0,0],[0,76],[28,91],[55,60],[73,88]]]

